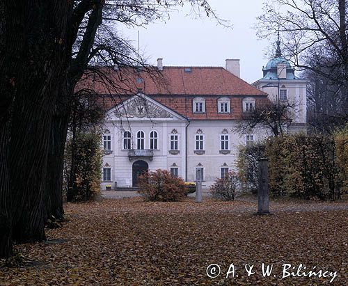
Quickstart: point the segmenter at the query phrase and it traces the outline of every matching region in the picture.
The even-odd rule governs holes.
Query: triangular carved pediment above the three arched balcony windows
[[[166,120],[186,120],[183,116],[168,107],[160,104],[156,100],[143,95],[137,94],[116,105],[108,111],[107,118],[111,120],[117,119],[166,119]]]

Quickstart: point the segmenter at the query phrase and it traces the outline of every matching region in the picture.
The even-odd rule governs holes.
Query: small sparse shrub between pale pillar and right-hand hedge
[[[237,174],[229,172],[222,179],[218,179],[210,187],[213,198],[219,200],[235,200],[235,193],[240,187],[240,180]]]

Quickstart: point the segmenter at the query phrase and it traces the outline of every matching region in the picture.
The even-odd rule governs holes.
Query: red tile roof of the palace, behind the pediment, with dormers
[[[185,69],[190,69],[190,72],[185,72]],[[268,102],[266,93],[223,67],[164,67],[162,71],[150,67],[146,70],[102,69],[99,72],[106,74],[109,79],[87,74],[77,88],[89,88],[104,95],[108,108],[140,90],[182,116],[197,120],[240,119],[244,97],[255,97],[256,104]],[[205,99],[203,114],[193,113],[192,102],[197,96]],[[218,113],[219,97],[230,99],[231,113]]]

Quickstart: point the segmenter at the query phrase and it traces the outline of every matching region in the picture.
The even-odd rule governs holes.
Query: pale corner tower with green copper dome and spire
[[[307,84],[306,79],[296,77],[294,67],[283,56],[280,49],[280,39],[276,42],[276,53],[265,67],[262,67],[263,77],[252,85],[268,93],[269,100],[275,104],[289,104],[292,113],[292,124],[289,133],[306,132]]]

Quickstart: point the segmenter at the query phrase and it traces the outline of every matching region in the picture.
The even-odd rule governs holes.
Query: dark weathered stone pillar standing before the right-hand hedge
[[[268,193],[268,160],[266,158],[258,159],[258,212],[256,214],[271,214],[269,212],[269,193]]]

